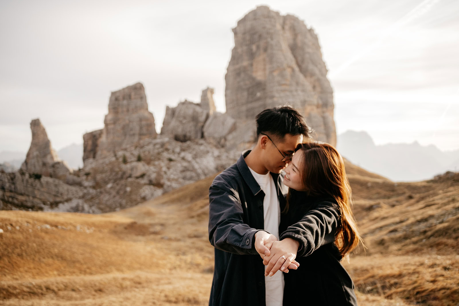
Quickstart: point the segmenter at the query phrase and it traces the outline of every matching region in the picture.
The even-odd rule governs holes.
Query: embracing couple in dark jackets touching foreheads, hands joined
[[[209,189],[209,305],[357,305],[340,263],[361,241],[340,154],[307,142],[310,128],[289,106],[256,122],[255,147]]]

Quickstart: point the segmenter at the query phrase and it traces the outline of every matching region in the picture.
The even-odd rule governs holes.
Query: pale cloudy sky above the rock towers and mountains
[[[166,106],[215,88],[224,111],[231,28],[255,1],[1,1],[0,151],[27,151],[39,117],[53,147],[103,127],[110,92],[142,82]],[[459,148],[459,2],[269,1],[319,36],[337,132],[376,144]]]

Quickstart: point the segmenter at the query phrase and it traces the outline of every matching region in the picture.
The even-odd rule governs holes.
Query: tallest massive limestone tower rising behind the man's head
[[[228,115],[253,120],[263,109],[288,104],[306,118],[315,139],[336,145],[333,90],[313,29],[258,6],[233,33],[225,76]]]

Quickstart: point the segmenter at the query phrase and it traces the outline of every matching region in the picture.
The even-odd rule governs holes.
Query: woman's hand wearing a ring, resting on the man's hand
[[[285,238],[281,241],[273,241],[270,247],[270,255],[265,256],[263,259],[263,264],[266,267],[264,276],[273,276],[277,271],[286,271],[288,268],[292,268],[292,262],[296,262],[295,258],[297,257],[297,250],[300,243],[291,238]],[[282,258],[281,256],[285,256]],[[294,264],[296,267],[299,264],[296,262]]]

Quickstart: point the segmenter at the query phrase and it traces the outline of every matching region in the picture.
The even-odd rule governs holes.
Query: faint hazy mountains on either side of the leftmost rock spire
[[[25,152],[21,151],[1,151],[0,164],[6,164],[9,171],[16,171],[22,165],[26,158]],[[73,169],[83,167],[83,144],[67,145],[57,151],[57,156],[63,161],[66,161],[68,166]]]

